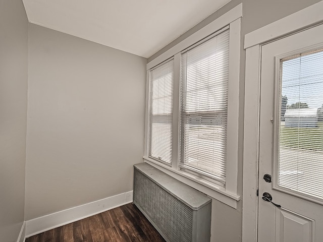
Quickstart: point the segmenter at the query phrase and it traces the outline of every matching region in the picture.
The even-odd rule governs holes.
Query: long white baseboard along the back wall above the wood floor
[[[26,237],[132,202],[132,191],[26,221]],[[19,241],[20,242],[20,241]]]

